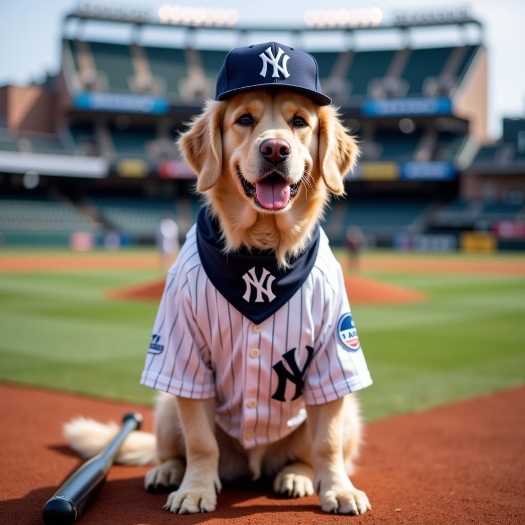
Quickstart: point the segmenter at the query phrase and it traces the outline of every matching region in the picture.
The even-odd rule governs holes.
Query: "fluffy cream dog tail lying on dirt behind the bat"
[[[64,437],[80,456],[97,455],[117,435],[119,426],[114,422],[98,423],[94,419],[77,417],[64,424]],[[134,430],[119,449],[115,463],[121,465],[149,465],[155,460],[156,439],[149,432]]]

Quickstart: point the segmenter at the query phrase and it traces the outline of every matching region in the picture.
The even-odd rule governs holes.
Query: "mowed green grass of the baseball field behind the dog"
[[[525,265],[523,256],[483,257]],[[428,293],[423,303],[352,308],[374,379],[360,394],[367,419],[525,382],[525,276],[367,272],[366,259],[363,268],[367,277]],[[160,276],[0,273],[0,379],[151,403],[154,392],[139,378],[157,305],[103,293]]]

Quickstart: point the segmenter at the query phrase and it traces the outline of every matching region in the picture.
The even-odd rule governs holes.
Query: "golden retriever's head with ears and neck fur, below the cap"
[[[289,90],[208,102],[178,145],[227,247],[274,249],[282,264],[308,239],[327,190],[344,193],[359,154],[332,106]]]

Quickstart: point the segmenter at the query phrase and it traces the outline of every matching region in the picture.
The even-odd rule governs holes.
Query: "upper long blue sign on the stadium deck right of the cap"
[[[452,102],[443,97],[366,99],[361,105],[361,113],[366,117],[449,115],[452,113]]]

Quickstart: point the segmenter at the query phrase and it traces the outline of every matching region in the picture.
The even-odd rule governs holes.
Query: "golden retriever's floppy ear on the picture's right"
[[[359,146],[341,124],[332,106],[319,108],[319,167],[324,184],[335,195],[344,193],[343,177],[359,156]]]

